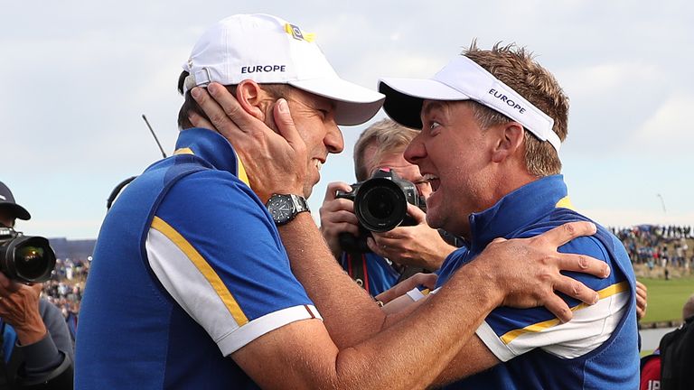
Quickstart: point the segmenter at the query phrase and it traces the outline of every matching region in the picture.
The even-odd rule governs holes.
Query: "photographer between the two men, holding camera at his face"
[[[422,176],[417,165],[408,163],[402,155],[417,133],[390,119],[370,125],[354,145],[357,181],[368,180],[381,168],[391,168],[400,178],[414,183],[418,195],[426,199],[431,193],[427,178]],[[352,190],[352,186],[345,182],[328,185],[320,209],[321,232],[342,268],[371,295],[388,290],[416,272],[437,270],[445,256],[455,250],[455,246],[447,243],[438,230],[429,228],[425,212],[411,204],[408,204],[411,226],[399,226],[382,233],[371,232],[366,239],[368,248],[346,248],[341,245],[342,234],[362,239],[366,235],[354,214],[354,202],[339,195],[336,197],[338,191]]]

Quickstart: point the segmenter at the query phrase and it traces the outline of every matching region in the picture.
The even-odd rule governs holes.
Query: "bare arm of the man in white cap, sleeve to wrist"
[[[500,301],[493,289],[475,287],[482,275],[467,274],[468,287],[463,279],[451,282],[450,294],[432,296],[411,316],[352,347],[337,348],[321,321],[305,320],[267,333],[234,358],[263,388],[424,388],[471,339],[483,312]],[[466,298],[455,299],[458,292]]]

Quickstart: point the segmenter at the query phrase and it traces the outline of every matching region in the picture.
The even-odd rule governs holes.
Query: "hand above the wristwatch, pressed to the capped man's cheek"
[[[250,188],[267,202],[273,193],[304,194],[306,145],[284,98],[273,108],[277,132],[241,107],[227,88],[211,83],[192,88],[211,123],[192,115],[192,125],[216,129],[234,146],[249,176]]]

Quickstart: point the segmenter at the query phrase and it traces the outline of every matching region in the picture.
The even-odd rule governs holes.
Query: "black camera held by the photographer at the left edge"
[[[51,278],[55,253],[43,237],[24,236],[0,227],[0,272],[21,283],[42,283]]]

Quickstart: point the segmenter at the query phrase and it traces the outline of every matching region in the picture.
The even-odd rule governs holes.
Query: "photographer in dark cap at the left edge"
[[[31,216],[0,182],[0,225],[14,228],[16,218]],[[41,289],[0,272],[0,389],[72,388],[70,333],[61,311],[39,297]]]

